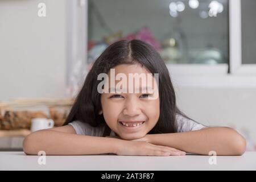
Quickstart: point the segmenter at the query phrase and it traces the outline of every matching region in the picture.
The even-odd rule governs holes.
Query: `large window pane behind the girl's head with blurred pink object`
[[[119,39],[141,39],[167,64],[228,64],[228,0],[88,0],[88,61]]]

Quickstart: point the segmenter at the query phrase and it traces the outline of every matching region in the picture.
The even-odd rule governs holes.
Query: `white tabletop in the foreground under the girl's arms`
[[[0,170],[256,170],[256,152],[245,152],[242,156],[216,156],[216,165],[209,164],[212,156],[200,155],[45,157],[44,165],[38,163],[42,156],[26,155],[24,152],[0,152]]]

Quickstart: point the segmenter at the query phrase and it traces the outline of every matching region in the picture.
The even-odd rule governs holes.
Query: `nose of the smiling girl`
[[[130,117],[141,114],[139,102],[136,98],[128,98],[125,101],[125,108],[123,109],[123,114],[129,115]]]

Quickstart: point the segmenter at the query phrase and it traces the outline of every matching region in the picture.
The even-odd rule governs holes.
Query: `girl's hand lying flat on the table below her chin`
[[[167,146],[156,146],[148,142],[139,142],[133,140],[120,140],[117,155],[143,155],[143,156],[169,156],[185,155],[184,151]]]

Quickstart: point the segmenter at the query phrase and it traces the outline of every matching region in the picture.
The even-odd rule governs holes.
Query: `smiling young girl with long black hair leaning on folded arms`
[[[115,89],[100,93],[98,76],[105,73],[111,80],[111,69],[126,77],[158,73],[157,96]],[[117,84],[115,80],[114,86]],[[131,87],[124,84],[123,88],[126,86]],[[35,131],[23,142],[27,155],[39,151],[46,155],[212,155],[212,151],[242,155],[245,148],[246,141],[237,131],[206,127],[181,113],[166,64],[154,48],[140,40],[122,40],[106,48],[90,69],[64,126]]]

